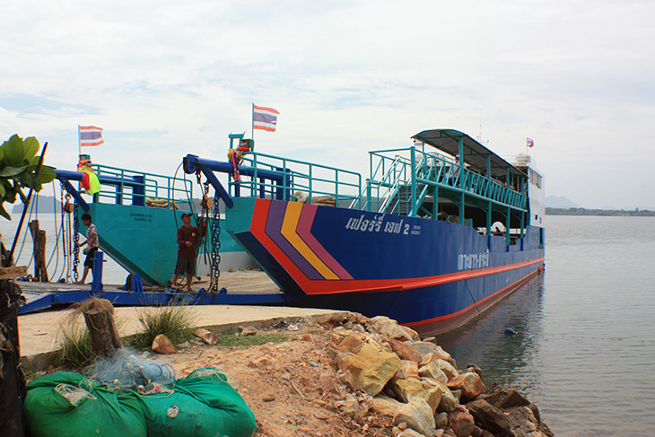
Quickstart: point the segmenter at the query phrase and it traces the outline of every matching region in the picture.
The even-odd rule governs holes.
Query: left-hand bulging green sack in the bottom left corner
[[[57,371],[27,385],[31,437],[146,437],[147,406],[134,392],[114,393],[83,375]]]

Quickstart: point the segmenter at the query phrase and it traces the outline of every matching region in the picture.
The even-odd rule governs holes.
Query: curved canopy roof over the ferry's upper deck
[[[486,160],[489,157],[491,173],[495,177],[504,177],[506,170],[510,170],[513,176],[526,178],[526,174],[518,168],[511,165],[510,162],[503,160],[500,156],[487,149],[484,145],[463,132],[454,129],[431,129],[424,130],[414,136],[412,139],[422,141],[425,144],[432,145],[435,149],[448,153],[452,156],[459,154],[459,139],[462,139],[464,155],[462,158],[467,164],[477,167],[480,170],[486,169]]]

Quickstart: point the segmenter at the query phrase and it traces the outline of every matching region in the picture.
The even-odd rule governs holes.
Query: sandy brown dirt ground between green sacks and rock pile
[[[166,355],[176,377],[200,367],[218,367],[229,378],[257,418],[255,436],[336,437],[391,436],[392,418],[373,414],[353,415],[353,398],[336,376],[329,356],[332,326],[316,323],[286,325],[266,333],[284,333],[289,341],[231,349],[198,345]],[[259,331],[258,334],[263,334]],[[348,400],[350,399],[350,404]]]

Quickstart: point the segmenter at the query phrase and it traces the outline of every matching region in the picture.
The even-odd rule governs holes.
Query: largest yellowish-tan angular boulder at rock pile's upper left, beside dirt
[[[375,342],[363,345],[358,354],[345,360],[345,371],[352,374],[353,389],[363,390],[371,396],[380,393],[399,368],[397,355]]]

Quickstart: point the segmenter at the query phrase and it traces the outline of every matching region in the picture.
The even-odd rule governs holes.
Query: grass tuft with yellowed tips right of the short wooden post
[[[196,310],[188,305],[166,305],[147,307],[138,311],[143,330],[133,337],[131,343],[138,349],[150,349],[155,336],[168,336],[173,345],[183,343],[193,336]]]

